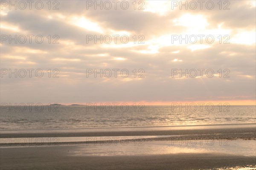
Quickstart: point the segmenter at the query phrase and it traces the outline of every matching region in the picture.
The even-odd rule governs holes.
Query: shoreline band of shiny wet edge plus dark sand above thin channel
[[[207,133],[251,133],[256,132],[256,124],[228,125],[184,125],[160,127],[116,127],[82,129],[44,129],[44,130],[0,130],[0,138],[11,137],[76,137],[76,136],[155,136],[189,135]]]

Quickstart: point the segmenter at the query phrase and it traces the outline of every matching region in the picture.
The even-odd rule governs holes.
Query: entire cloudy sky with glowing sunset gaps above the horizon
[[[2,103],[255,105],[254,0],[23,2],[1,1]]]

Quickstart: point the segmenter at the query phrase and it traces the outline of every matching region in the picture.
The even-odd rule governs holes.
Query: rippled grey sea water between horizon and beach
[[[256,106],[1,107],[1,130],[256,123]]]

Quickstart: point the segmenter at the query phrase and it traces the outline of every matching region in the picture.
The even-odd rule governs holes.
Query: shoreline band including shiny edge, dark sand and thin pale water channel
[[[0,133],[0,147],[9,146],[56,146],[90,144],[96,141],[131,142],[140,141],[175,141],[175,140],[256,140],[254,124],[247,125],[214,125],[173,127],[140,127],[119,129],[93,129],[91,131],[75,131],[71,129],[47,130],[28,133]]]

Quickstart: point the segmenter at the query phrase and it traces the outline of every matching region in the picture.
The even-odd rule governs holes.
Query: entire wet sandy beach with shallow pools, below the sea
[[[256,168],[255,124],[10,132],[3,170]]]

